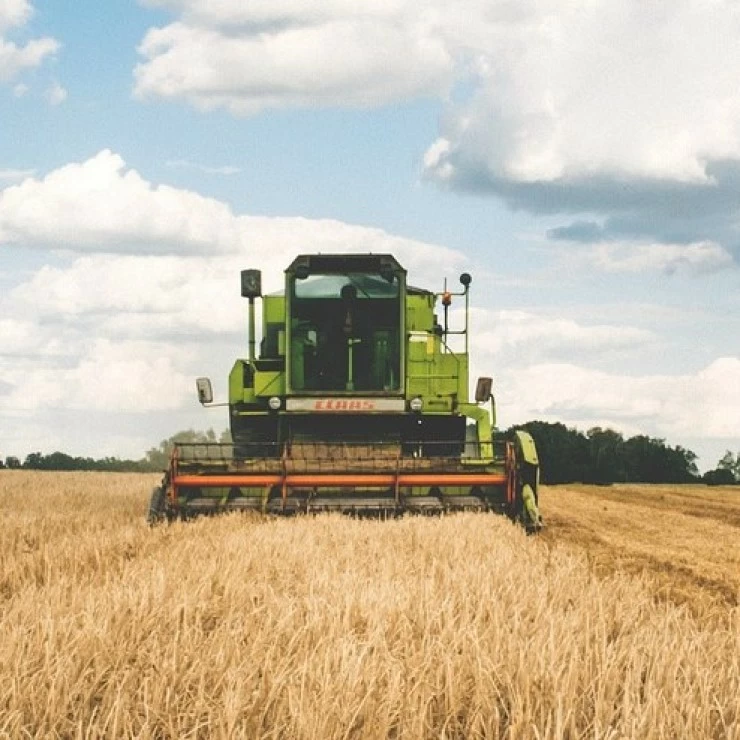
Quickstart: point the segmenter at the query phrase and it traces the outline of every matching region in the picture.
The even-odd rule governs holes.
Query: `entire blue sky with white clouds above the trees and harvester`
[[[237,273],[473,274],[502,425],[740,448],[740,9],[0,6],[0,456],[226,425]]]

